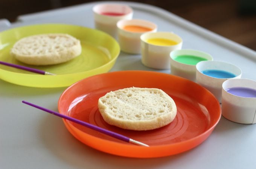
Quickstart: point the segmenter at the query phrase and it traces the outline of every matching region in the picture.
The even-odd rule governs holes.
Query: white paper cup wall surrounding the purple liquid
[[[234,87],[246,87],[256,92],[256,81],[251,79],[229,79],[222,84],[221,113],[230,121],[242,124],[256,123],[256,97],[242,97],[229,93]],[[255,94],[254,92],[254,94]]]

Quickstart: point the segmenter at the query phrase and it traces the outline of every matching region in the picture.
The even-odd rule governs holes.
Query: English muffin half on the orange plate
[[[174,100],[157,88],[124,88],[101,97],[98,108],[111,125],[130,130],[152,130],[171,123],[177,113]]]

